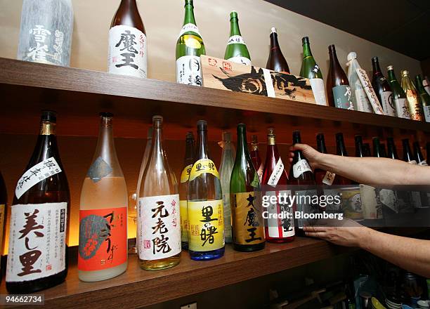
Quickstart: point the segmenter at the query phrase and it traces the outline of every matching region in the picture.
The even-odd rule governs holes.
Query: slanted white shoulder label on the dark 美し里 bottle
[[[54,157],[45,159],[42,162],[32,166],[31,169],[22,174],[15,188],[15,195],[19,199],[27,190],[32,188],[40,181],[60,173],[61,169]]]

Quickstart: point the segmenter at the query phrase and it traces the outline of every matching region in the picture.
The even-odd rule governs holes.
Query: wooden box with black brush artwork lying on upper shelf
[[[304,77],[232,63],[207,55],[200,58],[204,87],[316,104],[311,83]]]

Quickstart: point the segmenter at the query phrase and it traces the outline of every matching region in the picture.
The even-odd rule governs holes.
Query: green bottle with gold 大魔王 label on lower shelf
[[[237,251],[264,248],[259,175],[252,164],[245,124],[237,125],[237,152],[230,180],[233,245]]]

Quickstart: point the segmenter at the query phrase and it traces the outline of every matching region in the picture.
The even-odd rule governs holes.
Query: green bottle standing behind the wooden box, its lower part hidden
[[[249,56],[247,45],[242,38],[242,34],[240,34],[239,19],[237,18],[236,11],[230,13],[230,38],[227,42],[224,59],[233,63],[251,65],[251,57]]]

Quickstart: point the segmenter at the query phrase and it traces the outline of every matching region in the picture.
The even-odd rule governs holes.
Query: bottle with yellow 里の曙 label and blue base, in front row
[[[195,163],[188,179],[188,251],[195,261],[224,255],[223,193],[219,173],[210,159],[207,122],[197,121]]]

